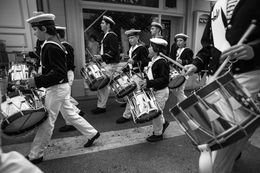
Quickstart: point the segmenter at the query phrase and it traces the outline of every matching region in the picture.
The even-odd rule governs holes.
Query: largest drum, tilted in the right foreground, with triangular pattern
[[[259,108],[249,92],[227,73],[194,92],[170,110],[191,141],[213,150],[252,134]]]

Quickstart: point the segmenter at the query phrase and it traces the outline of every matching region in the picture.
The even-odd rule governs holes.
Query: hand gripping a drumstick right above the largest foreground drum
[[[222,52],[220,62],[223,62],[227,57],[230,60],[250,60],[254,57],[254,50],[247,44],[234,45]]]

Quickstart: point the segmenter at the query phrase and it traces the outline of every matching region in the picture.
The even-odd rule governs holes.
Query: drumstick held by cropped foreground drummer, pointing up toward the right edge
[[[256,28],[256,20],[252,20],[250,26],[248,27],[248,29],[246,30],[246,32],[244,33],[244,35],[241,37],[241,39],[238,41],[237,45],[241,45],[243,44],[243,42],[247,39],[247,37],[252,33],[252,31]],[[220,72],[223,70],[223,68],[227,65],[227,63],[229,62],[230,57],[228,56],[225,61],[221,64],[221,66],[218,68],[218,70],[214,73],[214,75],[212,76],[212,78],[210,78],[210,81],[214,81],[216,80],[216,78],[218,77],[218,75],[220,74]]]

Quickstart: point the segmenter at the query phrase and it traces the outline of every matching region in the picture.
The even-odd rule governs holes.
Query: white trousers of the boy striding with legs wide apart
[[[30,159],[44,155],[44,150],[51,140],[59,111],[61,111],[64,119],[75,126],[83,135],[88,138],[96,135],[97,130],[74,111],[70,102],[70,86],[68,83],[47,88],[45,106],[48,110],[48,118],[39,126],[29,153]]]

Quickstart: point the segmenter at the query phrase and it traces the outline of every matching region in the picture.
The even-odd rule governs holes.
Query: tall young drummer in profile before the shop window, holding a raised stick
[[[114,25],[115,22],[111,17],[103,16],[100,26],[105,35],[101,41],[100,55],[94,55],[97,60],[102,60],[105,63],[103,67],[109,76],[113,76],[120,61],[118,36],[112,31]],[[110,87],[108,85],[97,91],[97,108],[92,110],[93,114],[106,112],[109,93]]]

